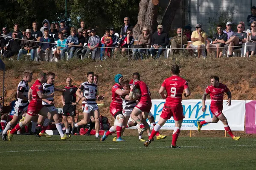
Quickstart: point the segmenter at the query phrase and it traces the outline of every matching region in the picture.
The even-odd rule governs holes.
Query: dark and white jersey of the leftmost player
[[[29,93],[29,84],[25,82],[24,80],[21,80],[19,82],[17,92],[21,92],[24,97],[28,96]],[[18,106],[26,106],[28,104],[28,100],[23,100],[20,98],[17,98],[18,100],[15,102],[15,107],[17,108]]]

